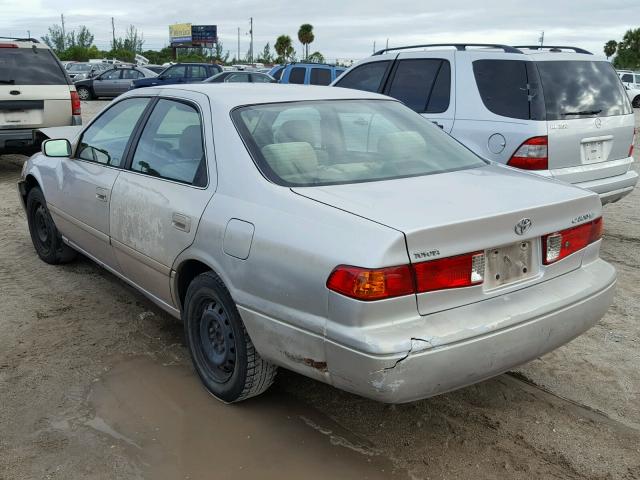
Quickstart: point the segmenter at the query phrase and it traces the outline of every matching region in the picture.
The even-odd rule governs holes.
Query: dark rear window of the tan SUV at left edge
[[[0,85],[66,85],[67,76],[51,50],[0,48]]]

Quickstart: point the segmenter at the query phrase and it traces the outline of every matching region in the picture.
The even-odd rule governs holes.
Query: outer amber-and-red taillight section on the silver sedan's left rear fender
[[[399,297],[415,290],[408,265],[378,269],[340,265],[329,275],[327,288],[358,300]]]

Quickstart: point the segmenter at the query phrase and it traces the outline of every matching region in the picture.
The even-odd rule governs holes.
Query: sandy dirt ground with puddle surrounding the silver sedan
[[[408,405],[281,370],[225,406],[179,322],[86,259],[37,258],[24,158],[0,158],[0,479],[640,479],[640,190],[605,208],[617,294],[569,345]]]

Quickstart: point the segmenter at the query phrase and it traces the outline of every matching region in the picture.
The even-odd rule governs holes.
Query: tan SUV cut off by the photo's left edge
[[[80,99],[45,44],[0,38],[0,153],[37,147],[42,127],[80,125]]]

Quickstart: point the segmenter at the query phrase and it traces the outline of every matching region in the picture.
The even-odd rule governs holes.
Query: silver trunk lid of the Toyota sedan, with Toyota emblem
[[[525,282],[527,286],[580,266],[578,259],[577,263],[558,262],[549,272],[545,271],[540,265],[540,236],[568,228],[572,221],[579,223],[583,218],[601,214],[600,200],[591,192],[497,165],[383,182],[292,190],[401,231],[411,263],[488,252],[528,241],[535,268],[525,280],[516,282],[518,285]],[[518,235],[515,226],[523,218],[529,218],[532,225],[524,235]],[[491,282],[485,282],[475,287],[423,293],[417,296],[418,311],[423,315],[433,313],[507,293],[513,288],[513,285],[494,288]]]

